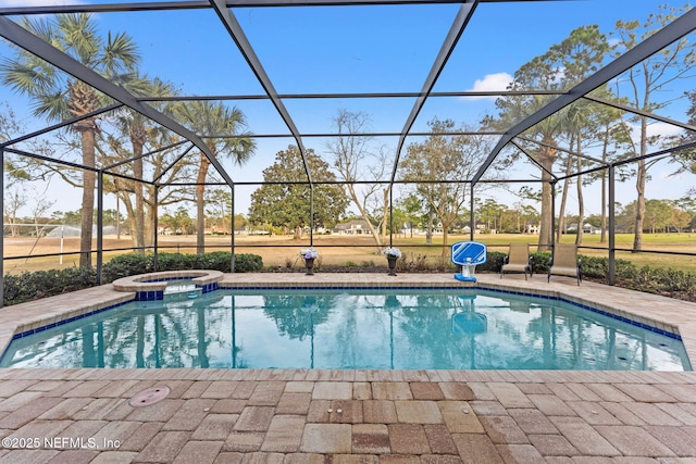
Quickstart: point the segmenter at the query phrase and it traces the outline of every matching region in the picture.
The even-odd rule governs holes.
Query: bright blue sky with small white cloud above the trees
[[[598,24],[608,34],[616,21],[643,21],[662,3],[683,4],[645,0],[482,3],[434,90],[504,89],[520,65],[547,51],[572,29]],[[20,4],[51,2],[0,0],[0,7]],[[234,12],[278,92],[321,93],[420,91],[458,9],[457,4],[433,4]],[[96,17],[102,30],[127,32],[139,45],[141,70],[171,80],[182,95],[263,93],[212,10],[109,13]],[[7,53],[8,48],[0,42],[0,57]],[[696,87],[693,83],[686,85],[689,84]],[[28,127],[46,125],[29,116],[25,97],[4,87],[0,87],[0,97],[12,104]],[[236,104],[247,115],[251,131],[287,133],[270,102]],[[336,110],[346,108],[369,114],[375,131],[398,133],[413,100],[286,100],[285,104],[300,131],[332,131]],[[684,111],[683,104],[675,103],[664,115],[684,121]],[[495,114],[493,99],[431,99],[413,129],[426,130],[427,121],[436,115],[475,124],[486,113]],[[291,138],[259,140],[257,155],[249,165],[226,165],[235,179],[261,180],[261,171],[272,164],[275,152],[293,142]],[[396,139],[385,138],[378,143],[394,150]],[[306,139],[304,145],[322,149],[316,139]],[[656,173],[656,178],[661,177]],[[693,184],[693,178],[685,181]],[[623,201],[630,201],[632,195],[629,189]]]

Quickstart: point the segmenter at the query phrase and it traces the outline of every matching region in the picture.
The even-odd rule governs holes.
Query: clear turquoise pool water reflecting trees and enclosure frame
[[[691,371],[681,340],[558,300],[183,290],[16,338],[0,366]]]

